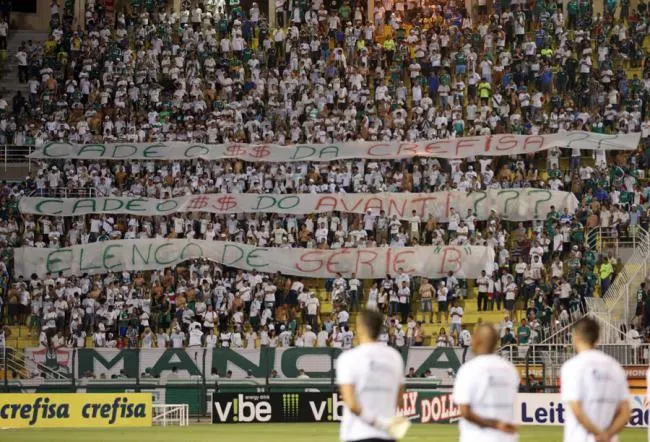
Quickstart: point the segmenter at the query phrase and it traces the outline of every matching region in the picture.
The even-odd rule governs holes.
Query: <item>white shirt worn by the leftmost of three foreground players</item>
[[[352,384],[363,410],[377,418],[395,415],[397,394],[404,383],[404,362],[400,354],[383,343],[362,344],[343,352],[336,360],[339,385]],[[346,408],[341,422],[341,440],[390,439]]]

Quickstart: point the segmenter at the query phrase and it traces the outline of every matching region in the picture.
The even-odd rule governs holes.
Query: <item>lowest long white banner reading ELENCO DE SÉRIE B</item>
[[[494,261],[490,247],[426,246],[359,249],[264,248],[241,243],[187,239],[102,241],[60,249],[14,249],[15,274],[102,274],[123,270],[161,270],[196,258],[260,272],[282,272],[307,278],[333,278],[337,273],[383,278],[403,269],[411,275],[438,278],[453,271],[476,278]]]

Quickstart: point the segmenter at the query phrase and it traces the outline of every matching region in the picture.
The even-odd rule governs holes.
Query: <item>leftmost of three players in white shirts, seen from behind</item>
[[[395,349],[377,341],[383,325],[381,313],[364,310],[357,324],[360,345],[336,360],[336,382],[345,403],[341,440],[399,439],[409,425],[405,418],[395,416],[404,391],[404,362]]]

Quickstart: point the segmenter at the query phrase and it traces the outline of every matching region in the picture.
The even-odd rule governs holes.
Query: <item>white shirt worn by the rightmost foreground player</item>
[[[579,353],[562,366],[562,400],[580,402],[589,420],[601,430],[608,428],[619,404],[629,397],[627,377],[620,364],[599,350]],[[564,440],[587,442],[589,434],[567,406]]]

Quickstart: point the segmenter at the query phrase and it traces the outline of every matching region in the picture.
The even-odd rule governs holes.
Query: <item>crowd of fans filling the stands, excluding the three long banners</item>
[[[201,2],[198,2],[201,3]],[[568,130],[641,132],[637,151],[551,149],[499,158],[266,164],[240,160],[43,161],[0,189],[0,247],[9,324],[29,323],[42,345],[352,345],[350,312],[386,312],[396,346],[467,346],[463,304],[504,310],[502,344],[535,342],[569,322],[584,299],[604,293],[618,260],[586,235],[648,227],[650,63],[644,2],[561,4],[384,1],[367,17],[345,0],[276,2],[277,26],[256,3],[132,1],[111,11],[86,2],[85,29],[68,3],[52,7],[45,42],[16,57],[29,93],[0,98],[0,143],[187,141],[336,143],[438,139]],[[613,6],[612,6],[613,5]],[[0,23],[0,31],[1,31]],[[1,32],[0,32],[1,39]],[[594,53],[595,52],[595,53]],[[625,69],[641,66],[641,76]],[[510,223],[493,213],[407,220],[383,214],[169,217],[21,215],[23,195],[167,198],[193,193],[359,193],[538,187],[573,192],[575,214]],[[330,318],[309,282],[190,262],[153,274],[66,278],[12,275],[11,249],[133,238],[201,238],[271,247],[487,245],[496,262],[474,281],[393,275],[363,284],[328,281]],[[471,293],[476,300],[468,301]],[[642,299],[637,324],[648,325]],[[473,296],[472,296],[473,297]],[[428,337],[422,324],[449,326]],[[421,318],[421,319],[420,319]],[[425,339],[426,338],[426,339]],[[428,340],[431,338],[431,340]]]

